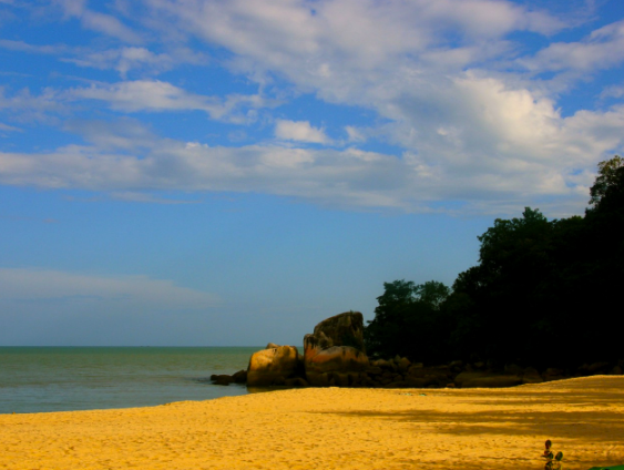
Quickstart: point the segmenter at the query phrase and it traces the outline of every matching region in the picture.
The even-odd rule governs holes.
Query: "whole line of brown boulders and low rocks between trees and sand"
[[[249,387],[512,387],[595,374],[622,375],[624,359],[584,364],[577,369],[541,369],[494,361],[454,360],[424,367],[405,357],[369,360],[364,344],[364,318],[347,311],[320,321],[304,338],[304,356],[294,346],[269,343],[249,359],[248,369],[233,376],[214,375],[214,384],[247,382]]]

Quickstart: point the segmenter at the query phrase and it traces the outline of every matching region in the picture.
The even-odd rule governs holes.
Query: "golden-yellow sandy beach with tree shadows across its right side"
[[[624,377],[0,415],[0,469],[536,470],[545,439],[566,469],[624,463]]]

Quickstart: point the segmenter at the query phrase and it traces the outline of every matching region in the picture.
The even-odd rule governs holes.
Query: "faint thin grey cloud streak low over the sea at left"
[[[0,268],[0,300],[172,313],[205,309],[219,302],[213,294],[147,276],[113,277],[34,268]]]

